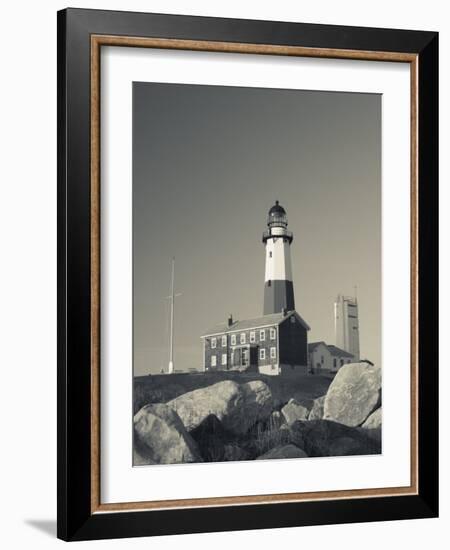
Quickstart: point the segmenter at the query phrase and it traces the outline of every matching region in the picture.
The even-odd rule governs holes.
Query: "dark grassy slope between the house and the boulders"
[[[275,408],[281,408],[291,397],[304,405],[324,395],[332,381],[329,375],[299,375],[296,377],[267,376],[259,373],[208,372],[175,373],[137,376],[134,378],[134,412],[148,403],[166,403],[179,395],[211,386],[222,380],[238,383],[262,380],[271,389]]]

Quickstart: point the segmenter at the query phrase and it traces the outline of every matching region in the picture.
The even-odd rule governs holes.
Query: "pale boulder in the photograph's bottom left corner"
[[[134,433],[138,458],[147,464],[202,462],[179,416],[163,403],[145,405],[134,415]]]

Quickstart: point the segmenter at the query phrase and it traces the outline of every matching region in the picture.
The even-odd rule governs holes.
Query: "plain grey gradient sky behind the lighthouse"
[[[201,367],[200,335],[230,313],[262,315],[275,200],[308,341],[335,343],[356,286],[361,357],[380,364],[381,96],[135,82],[135,375],[167,370],[172,257],[176,369]]]

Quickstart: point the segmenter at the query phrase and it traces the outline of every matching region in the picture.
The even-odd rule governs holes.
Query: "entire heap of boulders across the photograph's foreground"
[[[261,380],[224,380],[134,416],[134,465],[381,452],[381,369],[343,366],[312,405],[275,402]]]

